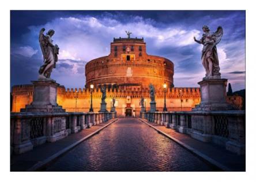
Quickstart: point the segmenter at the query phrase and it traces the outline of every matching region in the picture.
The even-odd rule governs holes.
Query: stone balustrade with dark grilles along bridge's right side
[[[141,118],[213,142],[237,154],[245,154],[244,111],[141,112]]]

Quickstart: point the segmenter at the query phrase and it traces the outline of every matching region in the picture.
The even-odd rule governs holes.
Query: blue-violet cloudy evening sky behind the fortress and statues
[[[11,11],[10,86],[31,84],[43,63],[38,34],[54,29],[59,45],[57,69],[51,78],[66,88],[83,88],[84,66],[110,53],[113,37],[144,37],[149,55],[174,62],[174,86],[198,87],[204,77],[201,64],[202,26],[223,26],[217,45],[222,78],[233,90],[245,88],[245,11]]]

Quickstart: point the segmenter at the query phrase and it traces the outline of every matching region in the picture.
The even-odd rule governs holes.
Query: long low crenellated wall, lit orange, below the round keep
[[[22,90],[29,90],[22,91]],[[182,97],[180,97],[180,90]],[[101,102],[100,88],[93,89],[93,109],[99,111]],[[20,112],[21,108],[25,108],[26,104],[30,104],[33,98],[33,85],[18,85],[12,88],[13,108],[12,112]],[[130,105],[134,109],[134,114],[139,115],[141,106],[140,99],[145,98],[146,109],[149,109],[149,89],[141,88],[140,86],[119,86],[107,85],[107,109],[110,111],[112,98],[116,99],[116,112],[118,116],[125,114],[127,100],[130,100]],[[91,91],[88,88],[84,89],[66,89],[60,86],[57,89],[57,103],[62,105],[67,112],[88,112],[90,107]],[[200,102],[199,88],[168,88],[166,92],[166,101],[168,111],[191,111],[196,104]],[[159,111],[163,110],[164,93],[163,89],[156,90],[156,106]]]

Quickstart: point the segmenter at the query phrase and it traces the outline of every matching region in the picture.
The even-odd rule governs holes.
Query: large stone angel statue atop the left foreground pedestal
[[[44,64],[39,69],[39,79],[50,79],[51,71],[56,67],[58,61],[59,47],[57,44],[52,44],[51,37],[54,35],[54,30],[50,29],[46,35],[42,28],[39,32],[39,43],[43,54]]]

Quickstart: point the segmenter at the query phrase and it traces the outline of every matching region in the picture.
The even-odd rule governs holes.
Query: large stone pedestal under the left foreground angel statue
[[[33,101],[21,112],[65,112],[57,104],[57,87],[59,84],[52,79],[39,79],[33,83]]]

